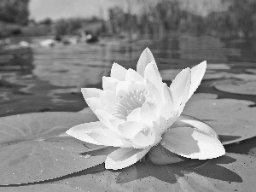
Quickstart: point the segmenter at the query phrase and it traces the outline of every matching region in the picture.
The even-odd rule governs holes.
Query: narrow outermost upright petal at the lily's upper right
[[[206,70],[207,70],[207,61],[203,61],[191,69],[191,85],[190,85],[188,100],[194,94],[197,87],[201,84],[201,79],[203,79],[203,76],[206,73]]]

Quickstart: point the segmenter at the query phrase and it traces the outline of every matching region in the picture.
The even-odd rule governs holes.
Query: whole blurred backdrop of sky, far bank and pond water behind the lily
[[[255,76],[255,0],[1,0],[0,116],[79,111],[80,88],[102,88],[113,62],[135,69],[146,47],[167,84],[207,60],[199,92],[256,102],[212,85]]]

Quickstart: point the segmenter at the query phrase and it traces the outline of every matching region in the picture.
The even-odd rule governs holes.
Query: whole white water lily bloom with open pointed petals
[[[221,156],[224,147],[209,125],[179,118],[206,67],[207,61],[203,61],[183,69],[168,87],[148,48],[137,62],[137,72],[113,63],[110,77],[102,78],[103,90],[82,89],[99,121],[76,125],[67,134],[86,143],[119,147],[105,160],[105,167],[113,170],[131,166],[158,144],[191,159]]]

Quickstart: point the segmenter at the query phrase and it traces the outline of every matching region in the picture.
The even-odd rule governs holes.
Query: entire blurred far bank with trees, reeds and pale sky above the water
[[[164,37],[170,33],[253,38],[254,0],[2,0],[0,37],[79,35]]]

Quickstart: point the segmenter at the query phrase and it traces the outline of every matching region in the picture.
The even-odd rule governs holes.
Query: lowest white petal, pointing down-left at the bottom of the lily
[[[105,168],[117,170],[131,166],[138,160],[141,160],[143,156],[148,153],[149,149],[150,148],[119,148],[111,154],[108,154],[105,160]]]

